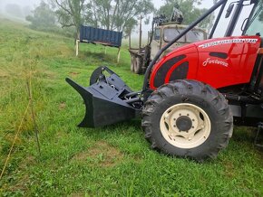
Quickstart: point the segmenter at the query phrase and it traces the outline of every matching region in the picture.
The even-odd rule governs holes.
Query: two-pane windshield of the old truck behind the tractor
[[[163,39],[165,42],[172,41],[184,29],[165,28],[163,31]],[[189,33],[183,35],[178,42],[198,42],[205,39],[205,33],[199,30],[191,30]]]

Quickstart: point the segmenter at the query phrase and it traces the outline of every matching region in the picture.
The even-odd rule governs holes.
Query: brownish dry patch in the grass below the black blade
[[[98,164],[102,167],[111,167],[122,161],[123,154],[120,150],[104,141],[95,143],[86,152],[73,156],[73,160]]]

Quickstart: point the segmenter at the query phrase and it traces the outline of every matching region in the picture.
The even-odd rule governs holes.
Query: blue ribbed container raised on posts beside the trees
[[[81,25],[80,42],[100,43],[106,46],[121,47],[122,32],[103,30],[91,26]]]

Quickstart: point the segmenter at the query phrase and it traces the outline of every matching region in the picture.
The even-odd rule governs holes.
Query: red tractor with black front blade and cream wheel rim
[[[228,3],[220,0],[158,52],[146,70],[141,91],[132,91],[107,67],[93,71],[87,88],[66,79],[86,106],[79,127],[102,127],[141,115],[151,148],[198,161],[216,157],[228,145],[234,124],[258,127],[259,133],[263,121],[263,1]],[[225,36],[212,38],[226,5],[226,17],[232,18]],[[242,24],[243,33],[232,36],[245,6],[252,9]],[[160,59],[173,42],[218,8],[209,40],[182,46]]]

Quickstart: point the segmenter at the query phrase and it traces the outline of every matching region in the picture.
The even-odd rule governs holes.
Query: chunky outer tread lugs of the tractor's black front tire
[[[153,121],[151,117],[156,110],[158,110],[159,104],[166,102],[166,98],[171,96],[169,92],[172,93],[173,96],[181,97],[181,102],[186,102],[187,98],[191,95],[201,95],[201,97],[212,103],[214,108],[217,109],[217,113],[223,119],[221,123],[223,124],[222,127],[225,128],[220,136],[219,143],[213,145],[208,153],[204,153],[201,156],[189,155],[189,153],[180,155],[181,157],[190,157],[200,162],[208,158],[215,158],[219,154],[219,151],[229,144],[229,138],[232,136],[233,131],[233,117],[228,101],[223,95],[221,95],[218,90],[197,80],[171,81],[168,84],[162,85],[159,89],[156,89],[145,102],[144,108],[142,109],[142,128],[145,131],[145,138],[151,142],[151,148],[153,147],[153,149],[158,149],[161,152],[170,154],[169,151],[163,149],[163,147],[156,142],[154,135],[152,135],[153,128],[151,124]]]

